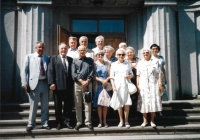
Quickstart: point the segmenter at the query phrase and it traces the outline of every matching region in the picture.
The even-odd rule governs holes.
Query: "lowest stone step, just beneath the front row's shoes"
[[[15,139],[30,139],[30,138],[50,138],[50,137],[84,137],[84,136],[122,136],[122,135],[186,135],[186,134],[199,134],[199,124],[185,124],[185,125],[167,125],[157,126],[152,128],[147,126],[142,128],[140,126],[132,126],[130,129],[125,127],[118,128],[116,126],[110,126],[108,128],[97,128],[89,130],[86,127],[76,131],[75,129],[61,129],[56,130],[44,130],[34,129],[31,133],[27,133],[25,128],[14,129],[1,129],[0,137],[2,139],[15,138]]]

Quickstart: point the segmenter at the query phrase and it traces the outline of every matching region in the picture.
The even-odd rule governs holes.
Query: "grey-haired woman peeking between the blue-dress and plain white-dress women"
[[[110,64],[117,61],[117,58],[113,56],[113,53],[115,52],[115,49],[112,46],[105,46],[104,49],[105,55],[104,60],[109,62]]]

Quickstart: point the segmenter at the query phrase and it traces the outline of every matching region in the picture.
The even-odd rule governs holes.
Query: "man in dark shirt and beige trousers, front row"
[[[85,125],[89,129],[93,129],[91,124],[91,102],[85,101],[83,93],[86,91],[92,92],[91,79],[94,77],[95,69],[92,58],[86,57],[86,52],[86,46],[79,46],[79,57],[74,59],[72,63],[72,77],[75,81],[76,130],[82,126],[82,101],[85,106]]]

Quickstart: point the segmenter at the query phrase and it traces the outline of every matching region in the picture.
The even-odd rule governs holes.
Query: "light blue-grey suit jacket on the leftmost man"
[[[47,76],[47,66],[49,63],[49,56],[43,55],[42,57],[45,75]],[[25,57],[24,65],[21,72],[22,86],[29,86],[34,90],[38,84],[40,75],[40,63],[38,62],[38,54],[28,54]]]

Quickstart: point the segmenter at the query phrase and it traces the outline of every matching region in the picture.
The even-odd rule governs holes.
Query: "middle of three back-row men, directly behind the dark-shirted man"
[[[85,46],[87,48],[88,46],[88,38],[86,36],[81,36],[79,38],[79,44],[80,46]],[[90,49],[87,49],[87,52],[86,52],[86,57],[90,57],[92,59],[95,58],[95,54],[94,54],[94,51],[93,50],[90,50]],[[79,57],[79,53],[77,52],[75,58],[78,58]]]

